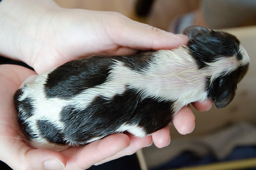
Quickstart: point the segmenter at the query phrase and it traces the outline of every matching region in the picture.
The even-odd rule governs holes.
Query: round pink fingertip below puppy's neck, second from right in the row
[[[195,115],[189,105],[183,107],[173,118],[173,125],[180,134],[191,133],[195,128]]]

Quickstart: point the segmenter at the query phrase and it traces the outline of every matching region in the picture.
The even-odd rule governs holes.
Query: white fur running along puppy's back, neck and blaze
[[[174,114],[182,107],[194,101],[201,101],[207,98],[205,92],[205,82],[208,76],[212,76],[211,81],[224,74],[235,70],[238,66],[244,65],[250,61],[244,48],[241,46],[244,58],[242,61],[237,61],[236,57],[223,57],[217,59],[213,63],[206,63],[209,67],[198,69],[196,61],[188,55],[188,48],[180,46],[173,50],[159,50],[156,52],[156,57],[150,62],[149,66],[143,72],[137,72],[128,68],[124,63],[115,61],[112,70],[108,76],[108,81],[102,85],[89,88],[74,96],[69,100],[51,98],[47,99],[44,94],[44,84],[47,75],[52,71],[48,71],[39,75],[33,82],[26,83],[22,92],[23,96],[20,101],[29,97],[35,99],[32,105],[35,107],[35,114],[28,118],[31,129],[35,134],[38,134],[36,120],[45,120],[53,123],[58,129],[63,129],[64,124],[60,122],[60,111],[67,105],[74,106],[77,110],[87,107],[93,99],[98,96],[104,96],[106,100],[111,100],[116,94],[122,94],[129,88],[137,89],[144,98],[152,97],[157,100],[175,101]],[[24,111],[20,110],[21,113]],[[143,128],[136,125],[124,123],[116,132],[129,131],[138,137],[146,135]],[[102,137],[92,138],[88,142],[98,140]],[[69,141],[69,139],[65,139]],[[61,146],[51,144],[45,139],[38,136],[34,141],[36,147],[47,147],[61,150]]]

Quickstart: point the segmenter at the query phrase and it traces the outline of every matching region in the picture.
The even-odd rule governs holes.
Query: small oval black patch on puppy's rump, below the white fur
[[[37,120],[36,124],[41,137],[52,143],[61,145],[67,144],[66,141],[63,140],[64,136],[60,133],[60,130],[58,130],[51,122]]]

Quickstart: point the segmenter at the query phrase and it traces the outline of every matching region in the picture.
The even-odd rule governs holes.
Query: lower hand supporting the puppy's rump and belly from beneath
[[[0,98],[0,144],[4,146],[0,148],[0,159],[13,169],[45,169],[45,167],[60,169],[66,166],[66,169],[82,170],[93,164],[101,164],[131,155],[140,148],[152,144],[152,139],[158,147],[164,147],[170,141],[170,132],[166,127],[152,134],[152,137],[138,138],[131,134],[113,134],[86,146],[71,147],[62,152],[35,149],[25,140],[17,122],[17,111],[13,103],[13,94],[16,89],[33,74],[36,73],[21,66],[0,65],[0,79],[2,80],[0,82],[0,95],[2,96]],[[178,114],[191,112],[187,107],[182,110]],[[180,125],[181,128],[184,126]]]

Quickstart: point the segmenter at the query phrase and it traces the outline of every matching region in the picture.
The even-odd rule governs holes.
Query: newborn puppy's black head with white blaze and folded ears
[[[227,106],[248,70],[248,54],[234,35],[223,31],[190,26],[183,33],[188,35],[190,55],[205,72],[208,98],[217,108]]]

